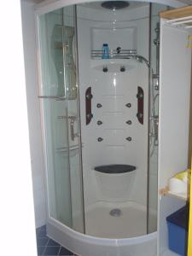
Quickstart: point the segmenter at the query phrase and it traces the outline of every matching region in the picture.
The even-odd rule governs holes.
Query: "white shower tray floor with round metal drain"
[[[118,217],[109,214],[115,208],[122,212]],[[132,201],[96,202],[85,211],[85,233],[90,236],[116,239],[146,235],[146,207]]]

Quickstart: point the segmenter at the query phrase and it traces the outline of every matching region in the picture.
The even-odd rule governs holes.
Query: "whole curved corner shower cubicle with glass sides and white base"
[[[36,11],[47,230],[74,253],[156,255],[166,9],[65,1]]]

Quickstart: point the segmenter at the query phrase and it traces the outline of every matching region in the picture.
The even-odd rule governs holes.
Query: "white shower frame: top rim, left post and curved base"
[[[40,61],[40,45],[38,40],[38,16],[47,14],[55,9],[61,9],[69,5],[84,3],[84,2],[99,2],[99,0],[48,0],[44,3],[39,3],[35,9],[36,32],[37,32],[37,46],[38,46],[38,83],[42,84],[41,75],[41,61]],[[182,7],[183,4],[175,0],[154,0],[154,1],[141,1],[148,3],[161,3],[167,4],[174,8]],[[45,134],[44,134],[44,108],[41,104],[42,113],[42,134],[44,144],[44,169],[46,177],[46,195],[47,195],[47,232],[50,237],[60,242],[63,246],[67,247],[73,253],[82,254],[84,256],[117,256],[117,255],[134,255],[134,256],[155,256],[157,250],[157,231],[145,236],[138,236],[134,238],[124,239],[108,239],[99,238],[94,236],[87,236],[83,233],[75,231],[65,224],[61,224],[55,218],[50,216],[49,210],[49,193],[48,193],[48,177],[46,173],[46,151],[45,151]],[[128,254],[130,253],[130,254]],[[134,253],[134,254],[133,254]]]

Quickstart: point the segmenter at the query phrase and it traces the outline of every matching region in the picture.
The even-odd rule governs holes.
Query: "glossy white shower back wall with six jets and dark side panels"
[[[141,20],[118,21],[116,26],[119,29],[136,28],[137,41],[134,49],[136,48],[139,55],[148,59],[148,17]],[[144,63],[131,60],[113,60],[113,65],[109,66],[109,60],[90,59],[91,47],[94,46],[97,49],[98,42],[102,42],[99,41],[101,38],[96,37],[93,29],[95,32],[96,29],[97,32],[101,32],[102,29],[107,30],[110,27],[110,22],[85,20],[78,16],[79,89],[81,134],[84,143],[82,153],[85,209],[97,201],[117,201],[117,197],[103,195],[94,171],[95,166],[109,164],[127,164],[137,167],[131,189],[127,190],[129,191],[128,195],[125,194],[124,197],[121,197],[121,201],[135,201],[145,207],[147,205],[148,67]],[[92,36],[95,36],[95,38],[92,38]],[[117,34],[118,37],[119,33]],[[103,42],[105,43],[107,39],[108,35],[103,39]],[[92,42],[93,40],[97,40],[97,42]],[[125,38],[120,38],[120,40],[124,43]],[[109,44],[109,47],[111,46],[114,47],[112,43]],[[100,48],[102,49],[102,45]],[[108,73],[102,72],[103,65],[108,66]],[[122,65],[126,67],[125,73],[119,72],[119,67]],[[91,93],[93,94],[93,119],[89,125],[85,125],[84,92],[89,86],[91,86]],[[137,86],[141,86],[144,91],[143,125],[138,122],[136,116]],[[131,108],[126,108],[125,104],[129,102]],[[101,103],[102,108],[96,108],[97,103]],[[126,124],[129,119],[132,121],[131,125]],[[98,120],[102,120],[102,125],[97,125]],[[103,138],[102,143],[98,143],[98,137]],[[132,137],[132,141],[128,142],[126,137]],[[129,177],[127,178],[129,180]],[[109,179],[108,183],[110,183]],[[113,183],[111,183],[111,187],[113,187]]]

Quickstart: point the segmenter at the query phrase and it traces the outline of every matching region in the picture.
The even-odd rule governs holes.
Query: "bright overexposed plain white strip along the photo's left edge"
[[[5,1],[1,3],[1,8],[1,255],[35,256],[20,1]]]

